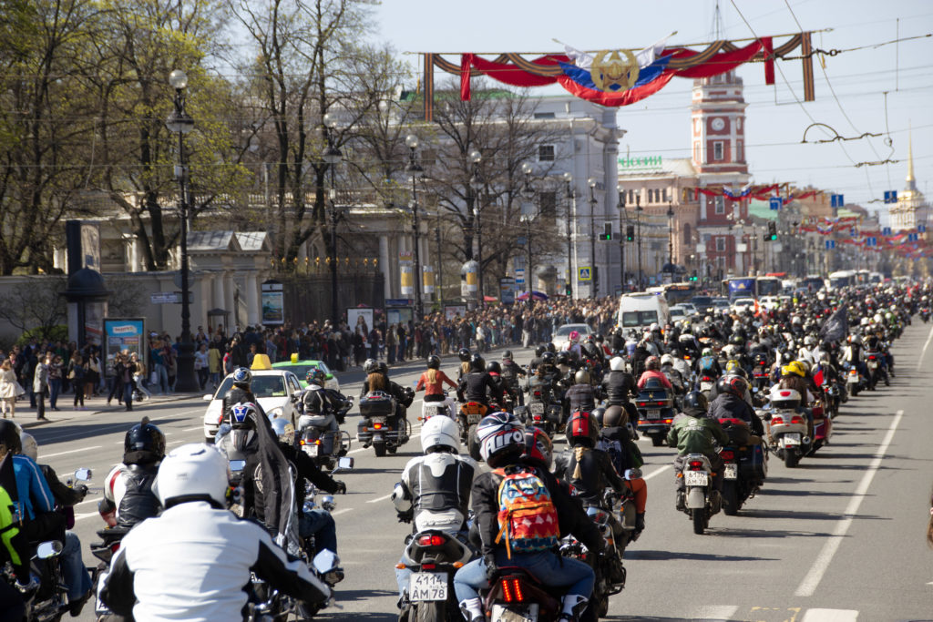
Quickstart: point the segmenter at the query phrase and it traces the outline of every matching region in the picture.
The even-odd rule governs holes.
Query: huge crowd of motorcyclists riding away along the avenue
[[[675,507],[702,532],[763,484],[769,454],[793,466],[829,444],[831,420],[850,397],[889,384],[891,343],[915,313],[928,317],[930,289],[811,292],[785,309],[706,311],[605,338],[572,332],[563,348],[537,346],[528,366],[510,351],[487,361],[465,347],[448,376],[429,355],[414,390],[425,392],[425,406],[447,405],[449,388],[460,406],[425,416],[424,455],[409,461],[391,496],[412,528],[396,567],[400,619],[425,619],[415,610],[440,601],[439,619],[485,620],[490,602],[511,601],[496,583],[507,573],[559,588],[553,619],[605,615],[608,595],[625,583],[622,552],[647,524],[639,437],[675,449]],[[382,441],[394,452],[411,434],[414,391],[390,380],[385,363],[369,359],[363,369],[358,438],[382,455],[383,433],[394,432]],[[126,433],[99,505],[121,545],[93,577],[68,531],[67,508],[87,488],[63,485],[36,463],[35,438],[0,420],[0,553],[10,562],[0,621],[29,619],[43,581],[35,546],[44,541],[62,543],[62,613],[80,614],[92,580],[101,611],[125,619],[258,619],[271,594],[303,615],[326,606],[343,573],[330,502],[314,496],[347,490],[320,458],[345,454],[335,439],[353,401],[324,389],[311,370],[299,420],[270,420],[249,369],[232,376],[213,446],[166,453],[164,435],[145,418]],[[309,427],[320,435],[306,436]],[[339,471],[335,464],[327,466]],[[328,552],[330,565],[318,564]],[[169,563],[182,557],[198,563]],[[443,588],[425,574],[435,562],[450,571]],[[416,581],[427,581],[426,591],[413,593]]]

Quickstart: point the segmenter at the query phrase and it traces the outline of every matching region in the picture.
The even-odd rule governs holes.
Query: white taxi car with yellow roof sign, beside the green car
[[[259,406],[266,411],[270,419],[285,417],[295,423],[296,405],[301,394],[301,384],[298,376],[285,369],[253,369],[253,394]],[[223,419],[223,397],[233,386],[233,375],[230,374],[215,394],[204,395],[205,401],[210,401],[204,411],[204,442],[214,443],[214,436]]]

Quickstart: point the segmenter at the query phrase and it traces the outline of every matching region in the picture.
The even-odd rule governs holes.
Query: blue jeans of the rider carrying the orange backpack
[[[509,560],[505,550],[495,552],[495,563],[499,568],[509,566],[523,568],[546,586],[562,587],[567,594],[578,594],[590,598],[595,575],[592,568],[580,561],[562,558],[550,553],[515,553]],[[486,580],[486,564],[481,558],[472,560],[457,571],[453,577],[453,590],[457,601],[480,598],[480,589],[489,587]]]

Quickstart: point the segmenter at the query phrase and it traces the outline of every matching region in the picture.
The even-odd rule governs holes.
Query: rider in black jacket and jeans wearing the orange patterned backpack
[[[579,560],[563,559],[551,549],[557,546],[560,537],[573,533],[584,546],[599,554],[604,546],[602,534],[579,501],[569,496],[553,474],[522,460],[524,428],[514,415],[495,412],[485,417],[478,426],[477,435],[482,459],[493,470],[473,480],[472,507],[476,515],[475,525],[480,532],[482,557],[467,563],[453,578],[461,613],[466,622],[483,622],[486,619],[478,590],[489,585],[489,579],[497,573],[498,566],[508,565],[528,570],[546,586],[566,587],[563,611],[558,621],[576,622],[592,594],[592,568]],[[528,552],[512,551],[513,546],[522,543],[517,539],[521,534],[514,528],[509,529],[512,519],[508,516],[508,508],[504,524],[499,523],[499,489],[506,477],[523,477],[529,485],[538,486],[538,495],[542,499],[541,513],[557,518],[558,525],[554,526],[551,520],[538,528],[542,530],[536,533],[540,537],[531,540],[539,546],[526,547]]]

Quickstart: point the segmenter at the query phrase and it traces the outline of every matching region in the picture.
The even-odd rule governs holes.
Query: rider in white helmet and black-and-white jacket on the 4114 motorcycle
[[[477,465],[461,456],[460,430],[449,417],[432,417],[421,427],[424,456],[412,458],[392,491],[400,522],[413,523],[412,532],[439,530],[466,544],[469,493]],[[405,563],[405,555],[399,564]],[[411,571],[396,567],[401,608]]]

